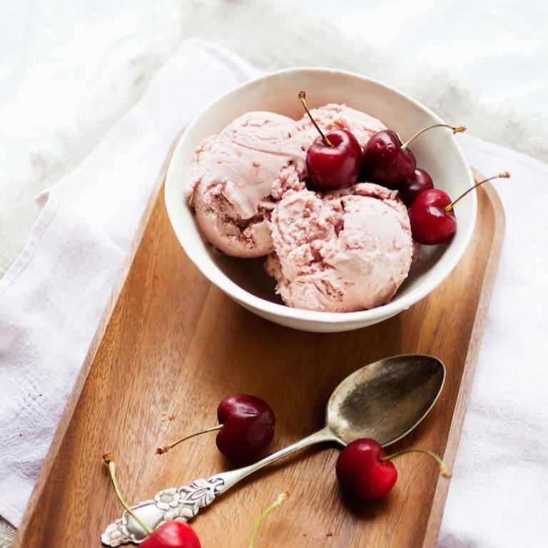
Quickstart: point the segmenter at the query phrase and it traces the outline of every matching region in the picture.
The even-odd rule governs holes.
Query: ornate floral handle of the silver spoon
[[[244,477],[304,447],[329,441],[341,443],[338,437],[326,426],[322,430],[303,437],[302,440],[288,445],[258,462],[254,462],[252,465],[222,472],[209,477],[207,480],[195,480],[192,484],[183,487],[163,489],[156,494],[153,500],[140,502],[131,509],[151,529],[156,529],[156,527],[163,524],[163,522],[168,522],[170,519],[188,522],[189,519],[198,514],[201,508],[211,504],[218,494],[225,492],[234,484],[243,480]],[[122,517],[111,523],[101,535],[101,542],[112,547],[126,544],[126,542],[139,544],[144,539],[146,539],[146,533],[128,512],[123,512]]]

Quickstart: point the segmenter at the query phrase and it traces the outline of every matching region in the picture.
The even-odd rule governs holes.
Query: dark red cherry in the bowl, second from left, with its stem
[[[389,188],[396,188],[409,178],[412,178],[417,161],[415,155],[407,148],[411,141],[432,128],[450,128],[453,133],[465,131],[465,127],[448,126],[446,123],[436,123],[433,126],[415,133],[409,141],[402,144],[395,131],[383,129],[377,131],[363,148],[362,178],[380,183]]]

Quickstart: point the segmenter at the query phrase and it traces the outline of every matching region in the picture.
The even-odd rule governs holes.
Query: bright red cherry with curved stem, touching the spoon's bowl
[[[430,455],[440,467],[440,473],[446,477],[450,475],[440,457],[432,451],[407,449],[386,455],[379,442],[364,437],[349,443],[340,452],[336,467],[338,480],[358,499],[375,502],[390,492],[396,483],[397,470],[390,460],[410,452]]]

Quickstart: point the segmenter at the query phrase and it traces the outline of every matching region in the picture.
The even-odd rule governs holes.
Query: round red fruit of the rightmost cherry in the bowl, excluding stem
[[[451,198],[439,188],[430,188],[415,198],[407,213],[418,243],[435,245],[455,235],[457,220],[453,208],[447,210],[450,203]]]

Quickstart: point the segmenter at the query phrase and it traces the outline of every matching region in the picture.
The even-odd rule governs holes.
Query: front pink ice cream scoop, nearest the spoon
[[[290,191],[271,217],[265,269],[285,304],[350,312],[385,305],[407,278],[413,241],[396,191],[360,183],[320,195]]]

